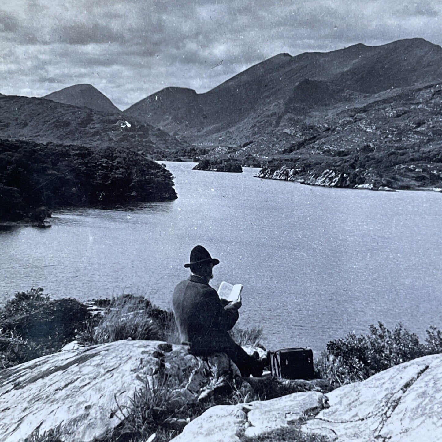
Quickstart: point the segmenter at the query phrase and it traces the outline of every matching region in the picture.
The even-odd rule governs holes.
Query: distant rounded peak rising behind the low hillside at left
[[[75,84],[69,86],[69,88],[52,92],[42,98],[56,101],[57,103],[72,104],[72,106],[89,107],[100,112],[121,113],[121,110],[106,95],[91,84]]]

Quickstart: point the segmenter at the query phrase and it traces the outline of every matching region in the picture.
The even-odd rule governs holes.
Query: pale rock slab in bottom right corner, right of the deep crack
[[[328,393],[301,428],[331,440],[436,442],[442,435],[442,354],[405,362]]]

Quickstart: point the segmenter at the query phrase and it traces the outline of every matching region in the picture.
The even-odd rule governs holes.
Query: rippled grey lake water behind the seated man
[[[309,187],[166,163],[179,198],[136,210],[54,213],[51,229],[0,232],[0,294],[139,293],[171,307],[195,244],[242,283],[239,324],[270,349],[310,346],[369,324],[442,326],[442,195]]]

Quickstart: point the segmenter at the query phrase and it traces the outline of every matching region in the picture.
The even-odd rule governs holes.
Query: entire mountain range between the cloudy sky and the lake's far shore
[[[42,98],[0,95],[0,137],[315,171],[345,158],[362,168],[374,157],[390,168],[427,158],[442,170],[441,80],[442,48],[421,38],[279,54],[205,93],[168,87],[124,111],[88,84]],[[387,163],[376,164],[382,175]]]

